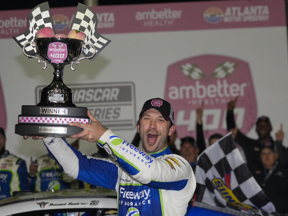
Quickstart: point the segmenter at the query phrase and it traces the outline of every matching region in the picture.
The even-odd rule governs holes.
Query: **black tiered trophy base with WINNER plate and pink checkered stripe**
[[[83,131],[70,122],[90,123],[87,108],[55,106],[22,106],[15,134],[39,137],[69,137]]]

